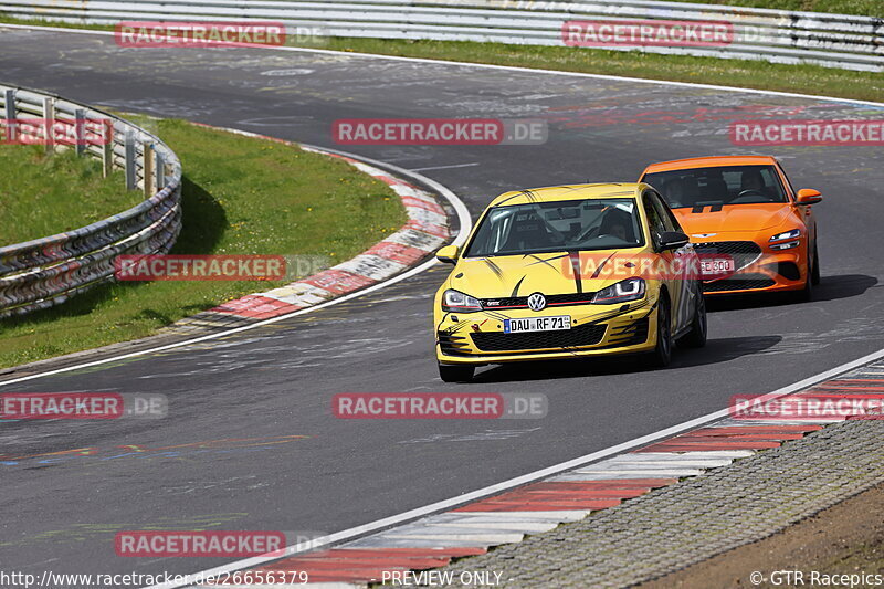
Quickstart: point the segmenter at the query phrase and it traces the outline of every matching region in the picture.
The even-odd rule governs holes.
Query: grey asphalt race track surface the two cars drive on
[[[0,31],[0,80],[96,105],[341,148],[454,190],[473,217],[513,188],[633,181],[648,162],[745,152],[744,118],[882,118],[842,102],[345,54],[120,49],[113,38]],[[824,93],[825,88],[821,88]],[[543,146],[344,147],[337,118],[544,118]],[[629,360],[481,369],[442,383],[431,301],[445,267],[354,301],[166,353],[0,391],[160,392],[158,421],[0,430],[0,562],[54,572],[193,572],[221,559],[133,559],[114,533],[179,526],[333,533],[648,434],[884,347],[884,155],[764,148],[817,188],[823,280],[806,304],[713,304],[709,344],[673,366]],[[1,337],[1,336],[0,336]],[[338,392],[543,392],[539,420],[338,420]],[[249,442],[231,441],[250,439]],[[215,441],[212,443],[206,443]],[[170,449],[169,446],[180,446]],[[43,454],[92,449],[63,459]]]

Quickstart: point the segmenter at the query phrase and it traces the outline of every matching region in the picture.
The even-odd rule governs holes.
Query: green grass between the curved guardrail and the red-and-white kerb
[[[150,123],[185,169],[183,230],[172,253],[304,254],[345,261],[406,221],[401,201],[387,185],[345,161],[181,120]],[[56,166],[35,164],[50,183],[59,180],[45,172]],[[118,188],[118,182],[110,183],[112,191]],[[59,307],[0,320],[0,367],[144,337],[223,301],[281,284],[104,285]]]

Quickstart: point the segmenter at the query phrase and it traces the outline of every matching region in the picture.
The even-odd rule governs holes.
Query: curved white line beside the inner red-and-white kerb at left
[[[460,229],[459,229],[459,232],[457,232],[457,236],[454,238],[454,241],[452,241],[452,243],[454,243],[455,245],[461,245],[466,241],[466,236],[470,233],[470,229],[472,227],[472,220],[470,219],[470,211],[466,209],[466,204],[464,204],[463,201],[460,198],[457,198],[457,194],[455,194],[453,191],[451,191],[446,187],[442,186],[441,183],[436,182],[435,180],[427,178],[425,176],[421,176],[420,173],[417,173],[417,172],[413,172],[413,171],[409,171],[409,170],[407,170],[404,168],[400,168],[399,166],[392,166],[390,164],[383,164],[382,161],[378,161],[378,160],[375,160],[375,159],[366,158],[366,157],[362,157],[362,156],[357,156],[357,155],[354,155],[354,154],[348,154],[346,151],[339,151],[337,149],[327,149],[325,147],[316,147],[316,146],[307,145],[307,144],[298,144],[298,145],[302,145],[302,146],[311,148],[311,149],[316,149],[316,150],[319,150],[319,151],[327,151],[329,154],[336,154],[338,156],[352,158],[352,159],[355,159],[357,161],[364,161],[364,162],[366,162],[366,164],[368,164],[370,166],[376,166],[376,167],[378,167],[380,169],[389,170],[389,171],[391,171],[393,173],[397,173],[399,176],[402,176],[402,177],[406,177],[406,178],[411,178],[413,180],[417,180],[419,183],[423,183],[424,186],[430,187],[431,189],[436,191],[439,194],[442,194],[451,203],[451,206],[454,208],[454,211],[457,214],[457,223],[460,224]],[[304,315],[306,313],[312,313],[312,312],[318,311],[320,308],[330,307],[333,305],[337,305],[338,303],[344,303],[346,301],[350,301],[352,298],[356,298],[356,297],[359,297],[359,296],[362,296],[362,295],[366,295],[366,294],[369,294],[369,293],[373,293],[375,291],[380,291],[381,288],[386,288],[387,286],[391,286],[391,285],[393,285],[393,284],[396,284],[398,282],[401,282],[401,281],[406,280],[406,278],[410,278],[411,276],[420,274],[421,272],[430,269],[431,266],[433,266],[433,265],[435,265],[438,263],[439,262],[436,262],[435,260],[429,260],[429,261],[424,262],[423,264],[421,264],[419,266],[414,266],[413,269],[408,270],[408,271],[403,272],[402,274],[399,274],[398,276],[393,276],[392,278],[390,278],[388,281],[381,282],[379,284],[375,284],[372,286],[369,286],[369,287],[364,288],[361,291],[357,291],[355,293],[350,293],[350,294],[341,296],[339,298],[335,298],[335,299],[329,301],[327,303],[322,303],[319,305],[307,307],[307,308],[304,308],[304,309],[301,309],[301,311],[295,311],[294,313],[290,313],[287,315],[280,315],[278,317],[272,317],[270,319],[264,319],[264,320],[261,320],[261,322],[257,322],[257,323],[253,323],[251,325],[244,325],[242,327],[228,329],[225,332],[219,332],[219,333],[215,333],[215,334],[209,334],[209,335],[200,336],[200,337],[196,337],[193,339],[187,339],[185,341],[178,341],[178,343],[175,343],[175,344],[167,344],[165,346],[157,346],[155,348],[144,349],[144,350],[139,350],[139,351],[133,351],[133,353],[129,353],[129,354],[123,354],[120,356],[113,356],[110,358],[103,358],[101,360],[94,360],[94,361],[91,361],[91,362],[83,362],[83,364],[77,364],[77,365],[74,365],[74,366],[69,366],[69,367],[65,367],[65,368],[57,368],[55,370],[48,370],[45,372],[40,372],[38,375],[30,375],[30,376],[27,376],[27,377],[13,378],[11,380],[4,380],[4,381],[0,382],[0,387],[6,387],[7,385],[15,385],[18,382],[24,382],[27,380],[34,380],[34,379],[43,378],[43,377],[48,377],[48,376],[60,375],[62,372],[70,372],[72,370],[80,370],[82,368],[90,368],[92,366],[101,366],[103,364],[115,362],[115,361],[118,361],[118,360],[124,360],[126,358],[135,358],[137,356],[144,356],[146,354],[154,354],[154,353],[157,353],[157,351],[165,351],[165,350],[169,350],[169,349],[180,348],[182,346],[190,346],[192,344],[198,344],[200,341],[208,341],[210,339],[218,339],[219,337],[225,337],[225,336],[229,336],[229,335],[232,335],[232,334],[238,334],[240,332],[248,332],[248,330],[254,329],[256,327],[262,327],[264,325],[270,325],[272,323],[281,322],[283,319],[297,317],[298,315]]]

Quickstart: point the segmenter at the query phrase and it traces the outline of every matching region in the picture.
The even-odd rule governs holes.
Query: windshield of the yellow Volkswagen
[[[634,199],[568,200],[491,209],[465,255],[613,250],[643,244]]]

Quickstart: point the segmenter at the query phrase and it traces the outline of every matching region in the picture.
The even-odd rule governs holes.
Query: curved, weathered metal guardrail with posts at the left
[[[74,140],[66,141],[67,148],[101,158],[105,175],[114,168],[123,169],[126,187],[145,193],[145,200],[136,207],[103,221],[0,248],[0,317],[63,303],[113,280],[117,255],[165,253],[171,249],[181,229],[181,165],[157,137],[87,105],[2,84],[0,117],[7,122],[36,119],[34,125],[7,123],[4,136],[46,144],[46,149],[64,148],[62,140],[53,144],[45,139],[53,136],[45,129],[52,122],[60,122],[75,133]],[[113,128],[113,134],[106,136],[109,140],[91,140],[82,130],[84,122],[96,119]]]

